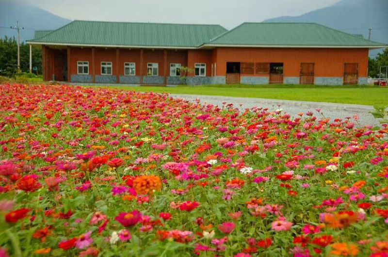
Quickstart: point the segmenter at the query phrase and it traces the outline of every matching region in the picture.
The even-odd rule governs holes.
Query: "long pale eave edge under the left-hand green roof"
[[[79,46],[79,47],[111,47],[111,48],[149,48],[149,49],[198,49],[196,46],[158,46],[158,45],[98,45],[98,44],[72,44],[72,43],[50,43],[50,42],[35,42],[27,41],[30,45],[63,45],[63,46]]]

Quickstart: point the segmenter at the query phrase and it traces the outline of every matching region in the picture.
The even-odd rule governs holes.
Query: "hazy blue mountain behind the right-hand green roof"
[[[388,0],[341,0],[338,3],[300,16],[282,16],[264,22],[315,22],[350,34],[388,44]],[[374,57],[377,52],[370,51]]]

